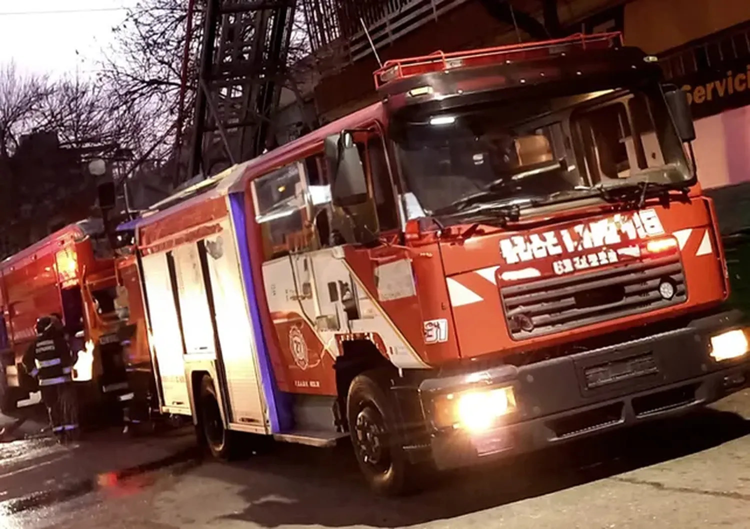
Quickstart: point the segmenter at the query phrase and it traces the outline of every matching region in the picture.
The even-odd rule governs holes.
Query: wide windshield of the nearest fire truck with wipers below
[[[392,120],[408,190],[428,214],[538,203],[627,182],[685,182],[685,152],[658,87],[514,99]]]

